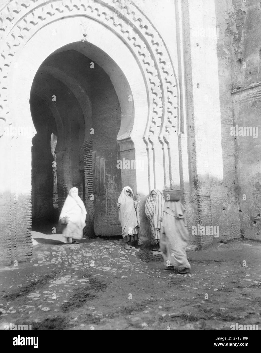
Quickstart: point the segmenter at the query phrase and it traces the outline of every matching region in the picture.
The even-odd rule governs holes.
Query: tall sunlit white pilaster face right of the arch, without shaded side
[[[210,173],[217,182],[223,180],[215,1],[186,0],[182,11],[195,222],[211,226]],[[197,238],[202,246],[213,241],[211,235]]]

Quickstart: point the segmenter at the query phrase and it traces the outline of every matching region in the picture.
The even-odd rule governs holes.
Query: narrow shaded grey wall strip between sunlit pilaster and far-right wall
[[[235,143],[230,135],[233,123],[231,96],[231,52],[230,33],[227,19],[231,11],[231,2],[227,0],[215,1],[216,26],[218,28],[217,57],[218,57],[218,85],[219,108],[221,124],[222,148],[222,184],[218,180],[212,182],[213,224],[220,224],[220,237],[217,240],[241,237],[238,198],[236,195],[236,167]],[[225,16],[224,16],[225,9]],[[215,148],[213,144],[213,148]]]

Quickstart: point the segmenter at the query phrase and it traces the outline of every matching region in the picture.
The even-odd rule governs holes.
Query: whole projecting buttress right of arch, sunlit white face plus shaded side
[[[184,1],[184,58],[190,184],[195,226],[219,226],[219,237],[240,236],[235,195],[229,37],[224,22],[226,3]],[[210,235],[196,236],[201,246]]]

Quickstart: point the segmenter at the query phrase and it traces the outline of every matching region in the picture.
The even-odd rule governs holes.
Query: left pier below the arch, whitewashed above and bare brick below
[[[26,261],[32,255],[31,241],[31,140],[26,137],[0,138],[6,150],[8,177],[1,199],[0,263]],[[4,150],[4,149],[3,149]],[[19,173],[18,173],[19,171]],[[7,175],[6,175],[7,176]]]

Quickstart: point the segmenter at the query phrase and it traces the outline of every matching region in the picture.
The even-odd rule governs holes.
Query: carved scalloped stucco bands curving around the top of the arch
[[[0,14],[0,119],[10,125],[8,117],[8,73],[13,70],[16,54],[36,31],[48,22],[72,16],[87,16],[105,24],[122,38],[135,53],[144,72],[149,114],[144,141],[154,138],[163,143],[170,133],[178,132],[178,93],[174,68],[158,31],[132,2],[122,8],[122,1],[20,0],[9,2]],[[3,120],[4,119],[4,120]],[[1,136],[1,135],[0,135]]]

